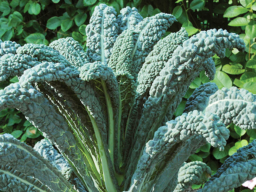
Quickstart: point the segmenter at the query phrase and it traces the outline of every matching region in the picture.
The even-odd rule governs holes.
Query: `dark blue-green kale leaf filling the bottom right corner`
[[[228,157],[203,189],[198,192],[226,192],[256,177],[256,140]]]

